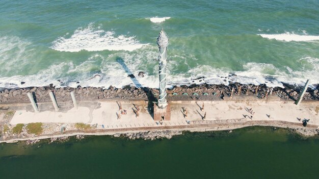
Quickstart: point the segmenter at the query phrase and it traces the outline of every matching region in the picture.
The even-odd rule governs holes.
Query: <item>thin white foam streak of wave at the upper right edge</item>
[[[304,34],[306,34],[305,31],[303,31]],[[263,38],[268,39],[276,39],[280,41],[314,41],[319,40],[319,36],[312,36],[312,35],[298,35],[295,33],[284,33],[284,34],[258,34]]]

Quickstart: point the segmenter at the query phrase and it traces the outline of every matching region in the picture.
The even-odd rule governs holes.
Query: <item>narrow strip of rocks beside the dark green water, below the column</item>
[[[154,140],[154,139],[171,139],[175,135],[181,135],[181,131],[146,131],[146,132],[137,132],[137,133],[125,133],[122,136],[127,137],[128,139],[144,139],[144,140]],[[117,133],[114,137],[120,137],[121,134]]]

